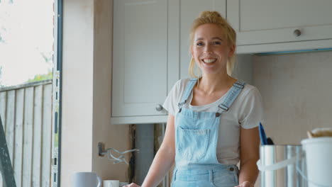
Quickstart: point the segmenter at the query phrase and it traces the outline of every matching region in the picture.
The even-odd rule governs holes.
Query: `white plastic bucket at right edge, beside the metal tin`
[[[332,186],[332,137],[302,140],[309,187]]]

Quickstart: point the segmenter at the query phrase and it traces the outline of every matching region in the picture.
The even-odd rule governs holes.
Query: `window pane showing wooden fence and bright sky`
[[[0,0],[0,115],[19,187],[51,186],[53,4]]]

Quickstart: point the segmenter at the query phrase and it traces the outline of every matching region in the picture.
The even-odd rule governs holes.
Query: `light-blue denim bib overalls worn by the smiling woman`
[[[245,83],[236,81],[228,91],[216,113],[195,112],[182,108],[196,84],[190,79],[179,103],[179,113],[175,116],[175,169],[172,187],[238,185],[238,167],[220,164],[216,157],[218,131],[221,113],[228,111]],[[222,129],[221,129],[222,130]]]

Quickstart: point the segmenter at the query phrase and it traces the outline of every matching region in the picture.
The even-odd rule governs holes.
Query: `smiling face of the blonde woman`
[[[195,30],[191,52],[203,74],[226,74],[227,60],[234,50],[216,24],[206,23]]]

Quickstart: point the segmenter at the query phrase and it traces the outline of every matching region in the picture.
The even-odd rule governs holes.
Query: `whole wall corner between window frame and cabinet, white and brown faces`
[[[97,149],[98,142],[131,148],[128,125],[110,125],[113,1],[63,3],[61,186],[72,186],[75,171],[126,181],[128,165],[98,157]]]

